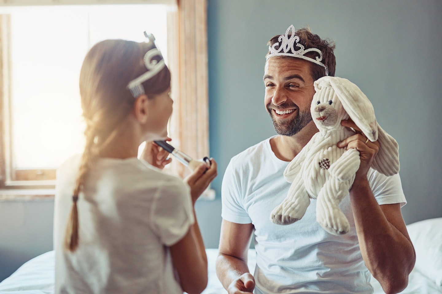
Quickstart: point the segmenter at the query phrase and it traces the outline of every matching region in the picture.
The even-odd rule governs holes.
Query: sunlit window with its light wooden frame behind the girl
[[[144,41],[144,30],[155,34],[174,77],[173,145],[195,158],[207,155],[205,1],[0,7],[0,188],[53,188],[56,167],[83,150],[78,76],[84,55],[107,38]],[[171,168],[186,175],[176,160]]]

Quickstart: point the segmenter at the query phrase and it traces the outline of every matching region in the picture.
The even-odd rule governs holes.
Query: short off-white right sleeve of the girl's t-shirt
[[[154,197],[150,216],[152,230],[164,245],[181,240],[195,221],[189,187],[179,179],[163,183]]]

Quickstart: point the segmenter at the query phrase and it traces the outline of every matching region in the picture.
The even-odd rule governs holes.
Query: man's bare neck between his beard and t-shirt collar
[[[271,138],[270,146],[275,156],[280,160],[292,161],[317,132],[318,129],[315,123],[311,121],[300,132],[293,136],[278,135]]]

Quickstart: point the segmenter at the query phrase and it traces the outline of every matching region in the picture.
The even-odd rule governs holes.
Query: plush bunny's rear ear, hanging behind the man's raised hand
[[[377,124],[377,132],[380,147],[373,159],[372,167],[381,174],[395,175],[399,172],[399,145],[379,124]]]

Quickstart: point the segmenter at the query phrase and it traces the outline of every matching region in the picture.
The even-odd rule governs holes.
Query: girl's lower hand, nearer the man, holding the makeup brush
[[[201,196],[202,192],[206,190],[210,182],[212,182],[212,180],[215,179],[216,176],[217,163],[213,158],[211,158],[210,167],[207,167],[206,163],[201,162],[201,165],[196,167],[194,171],[190,175],[188,175],[186,179],[184,179],[184,182],[186,182],[187,185],[189,185],[189,187],[191,188],[191,197],[193,204],[195,204],[195,202]]]

